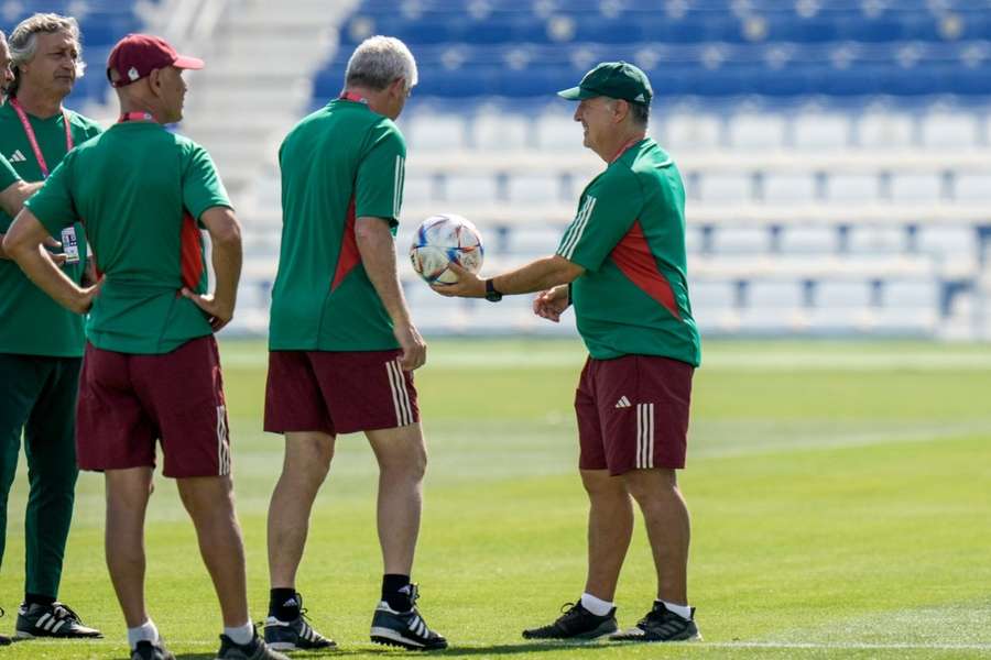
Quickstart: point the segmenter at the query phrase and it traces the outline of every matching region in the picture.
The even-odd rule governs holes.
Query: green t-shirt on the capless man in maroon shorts
[[[361,264],[356,218],[388,220],[402,204],[406,143],[362,102],[338,99],[282,143],[282,252],[269,348],[385,351],[392,321]]]

